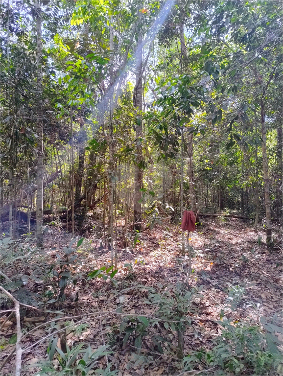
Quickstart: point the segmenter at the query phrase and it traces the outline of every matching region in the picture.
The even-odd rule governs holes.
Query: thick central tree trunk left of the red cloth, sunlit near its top
[[[136,85],[133,93],[133,104],[137,109],[137,123],[136,123],[136,165],[135,165],[135,197],[134,197],[134,223],[136,230],[141,230],[142,221],[142,30],[138,35],[138,51],[141,56],[136,57]]]

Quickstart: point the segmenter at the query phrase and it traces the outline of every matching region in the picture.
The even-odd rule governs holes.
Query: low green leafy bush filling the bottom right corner
[[[215,368],[214,375],[282,375],[282,353],[270,341],[269,333],[247,322],[219,322],[224,328],[215,339],[212,351],[192,352],[183,359],[184,371],[191,371],[199,364]],[[276,330],[281,328],[276,327]],[[219,373],[219,368],[222,371]]]

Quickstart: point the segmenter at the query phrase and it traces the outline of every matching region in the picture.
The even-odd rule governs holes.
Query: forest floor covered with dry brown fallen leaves
[[[49,300],[45,308],[39,306],[45,312],[27,309],[24,313],[22,329],[24,333],[32,330],[22,341],[23,365],[29,367],[25,375],[35,375],[38,368],[34,365],[47,359],[51,336],[42,339],[52,331],[58,330],[57,346],[63,347],[62,326],[60,320],[55,321],[63,316],[68,346],[73,348],[84,342],[94,350],[109,345],[112,353],[99,357],[97,367],[105,369],[112,362],[111,370],[116,369],[118,376],[178,375],[178,372],[185,375],[178,365],[178,331],[174,326],[182,310],[189,321],[183,337],[185,355],[212,348],[223,329],[219,324],[223,316],[235,323],[248,321],[260,325],[260,317],[271,322],[278,315],[276,323],[282,326],[282,250],[276,246],[269,252],[264,232],[256,234],[242,220],[206,219],[190,234],[193,257],[189,281],[189,258],[181,255],[182,234],[177,225],[156,226],[143,232],[134,249],[122,249],[118,241],[118,272],[113,279],[109,278],[111,270],[108,278],[101,271],[104,278],[87,281],[90,272],[111,265],[111,252],[104,248],[101,237],[85,238],[74,250],[78,255],[76,260],[68,261],[71,281],[75,279],[76,284],[66,287],[66,300],[57,305],[50,299],[56,283],[58,289],[58,278],[50,277],[50,271],[60,273],[62,260],[58,256],[64,260],[62,250],[68,247],[71,238],[50,228],[44,252],[36,251],[28,264],[18,263],[17,273],[30,276],[24,289],[37,300]],[[13,268],[10,275],[6,271],[11,278],[14,272]],[[40,277],[41,273],[45,276]],[[182,295],[180,289],[188,294]],[[75,293],[78,293],[76,302]],[[47,324],[52,320],[56,326]],[[80,328],[84,325],[82,332],[78,325]],[[15,321],[11,319],[0,332],[0,362],[13,350],[15,342],[11,338],[15,333]],[[126,335],[128,339],[124,340]],[[282,341],[282,334],[277,333],[277,337]],[[12,358],[4,366],[3,375],[14,373],[14,366]],[[198,368],[202,370],[201,366]]]

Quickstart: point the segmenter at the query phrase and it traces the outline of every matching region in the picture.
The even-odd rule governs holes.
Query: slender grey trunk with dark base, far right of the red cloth
[[[266,149],[266,122],[263,97],[260,99],[260,118],[261,118],[261,147],[262,147],[262,164],[263,164],[263,182],[264,182],[264,200],[266,212],[266,244],[268,247],[272,245],[272,221],[271,221],[271,205],[269,192],[269,174],[268,159]]]

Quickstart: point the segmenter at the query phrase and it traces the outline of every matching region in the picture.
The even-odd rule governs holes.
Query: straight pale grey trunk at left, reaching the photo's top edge
[[[36,39],[37,39],[37,195],[36,195],[36,239],[39,246],[43,243],[43,108],[42,108],[42,16],[38,0],[35,1]]]

